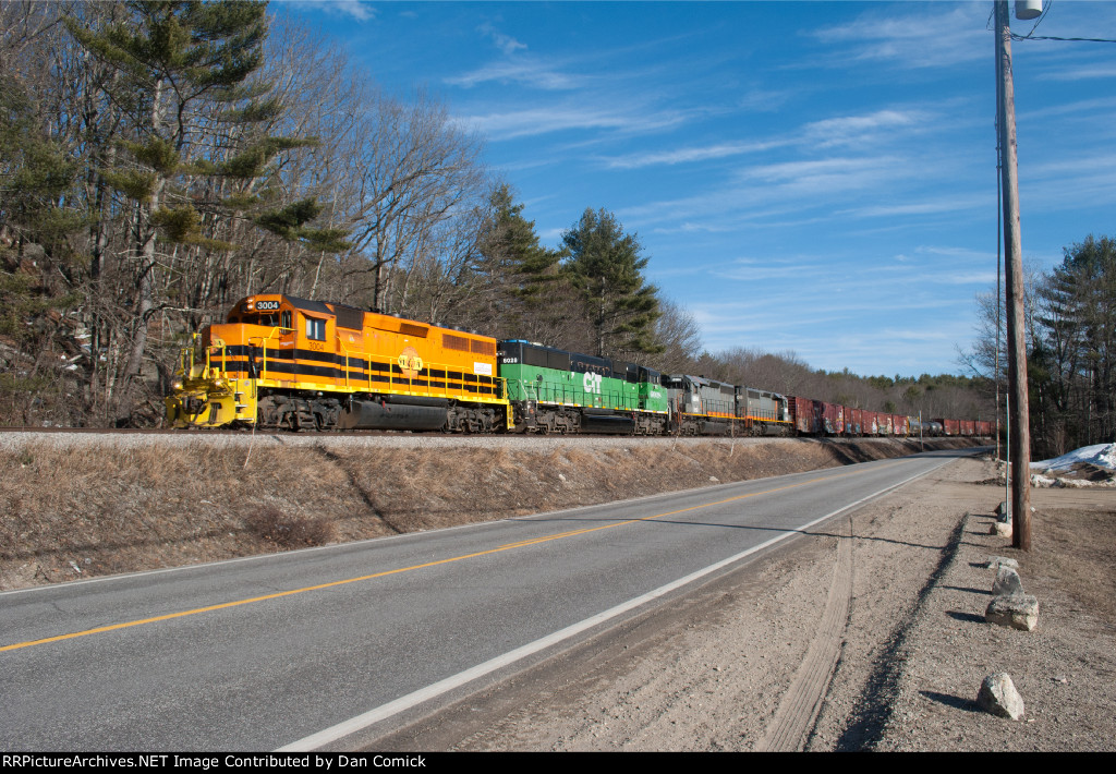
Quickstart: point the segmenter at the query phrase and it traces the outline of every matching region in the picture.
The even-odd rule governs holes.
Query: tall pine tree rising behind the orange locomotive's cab
[[[343,232],[307,226],[319,212],[312,199],[267,211],[271,192],[260,185],[272,159],[311,141],[256,128],[280,109],[268,86],[251,78],[262,63],[266,10],[246,0],[134,0],[96,30],[67,20],[74,37],[115,69],[109,99],[126,116],[122,136],[108,140],[114,151],[102,155],[106,165],[96,170],[127,203],[134,235],[126,385],[136,382],[147,354],[148,324],[161,306],[156,275],[167,250],[233,250],[228,237],[238,219],[316,249],[346,247]]]

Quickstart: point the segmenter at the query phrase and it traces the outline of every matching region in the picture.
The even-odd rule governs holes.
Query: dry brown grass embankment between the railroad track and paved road
[[[899,442],[555,449],[42,445],[0,452],[0,589],[591,505],[908,453]],[[713,480],[715,479],[715,481]],[[77,570],[75,570],[75,566]]]

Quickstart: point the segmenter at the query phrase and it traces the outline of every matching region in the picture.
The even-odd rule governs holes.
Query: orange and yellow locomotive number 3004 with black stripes
[[[280,294],[195,334],[166,398],[176,428],[491,432],[511,419],[496,340]]]

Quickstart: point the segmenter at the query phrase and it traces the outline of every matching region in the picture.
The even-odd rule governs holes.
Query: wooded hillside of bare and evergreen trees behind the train
[[[8,0],[0,30],[4,423],[157,423],[186,336],[264,292],[876,410],[980,413],[954,378],[702,353],[615,216],[586,209],[541,246],[480,137],[263,3]]]

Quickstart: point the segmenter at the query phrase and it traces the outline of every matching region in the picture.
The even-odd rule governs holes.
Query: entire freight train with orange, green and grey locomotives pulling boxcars
[[[881,413],[663,374],[522,340],[282,294],[194,335],[165,399],[175,428],[990,436],[990,422]]]

